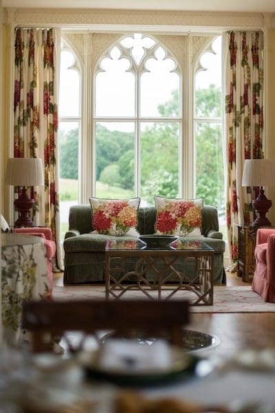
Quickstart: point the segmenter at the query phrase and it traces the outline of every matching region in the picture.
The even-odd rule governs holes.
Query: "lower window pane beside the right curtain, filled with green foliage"
[[[224,160],[221,123],[195,123],[196,197],[225,213]]]

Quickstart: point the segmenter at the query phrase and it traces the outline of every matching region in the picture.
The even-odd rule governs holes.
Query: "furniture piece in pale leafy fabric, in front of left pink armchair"
[[[1,234],[3,340],[19,346],[23,339],[23,301],[50,297],[46,247],[41,237]]]

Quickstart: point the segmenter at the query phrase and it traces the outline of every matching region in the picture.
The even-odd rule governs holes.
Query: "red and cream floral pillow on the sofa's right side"
[[[156,224],[159,235],[201,235],[203,200],[169,199],[155,196]]]

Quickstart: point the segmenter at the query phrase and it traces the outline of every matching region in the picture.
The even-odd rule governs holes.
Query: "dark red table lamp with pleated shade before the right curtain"
[[[272,201],[265,196],[263,187],[275,185],[275,159],[246,159],[243,165],[243,187],[260,187],[260,193],[256,200],[252,200],[252,208],[258,213],[254,220],[254,226],[271,226],[271,222],[265,216]]]

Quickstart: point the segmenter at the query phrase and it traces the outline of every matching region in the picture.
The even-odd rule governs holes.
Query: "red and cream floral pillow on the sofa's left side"
[[[136,226],[140,201],[140,198],[129,200],[90,198],[94,230],[106,235],[138,235]]]

